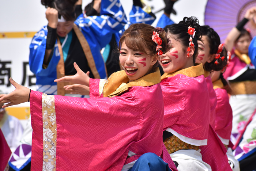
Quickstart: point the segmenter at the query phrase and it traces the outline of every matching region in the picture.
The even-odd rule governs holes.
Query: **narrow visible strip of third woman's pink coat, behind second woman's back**
[[[210,75],[205,77],[205,80],[206,80],[209,97],[210,97],[210,107],[211,107],[210,124],[211,124],[212,128],[215,128],[215,115],[216,115],[215,108],[217,106],[217,97],[216,97],[215,91],[212,86],[212,81],[211,81]]]

